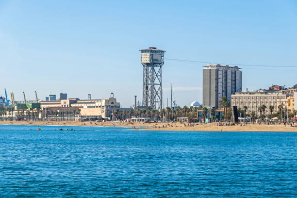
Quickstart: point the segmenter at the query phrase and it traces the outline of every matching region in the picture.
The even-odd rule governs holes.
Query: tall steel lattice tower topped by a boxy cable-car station
[[[164,50],[149,47],[140,49],[143,65],[143,98],[142,106],[162,109],[162,66]]]

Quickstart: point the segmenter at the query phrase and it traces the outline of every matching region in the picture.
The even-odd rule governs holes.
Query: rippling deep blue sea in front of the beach
[[[0,197],[297,197],[296,132],[0,125]]]

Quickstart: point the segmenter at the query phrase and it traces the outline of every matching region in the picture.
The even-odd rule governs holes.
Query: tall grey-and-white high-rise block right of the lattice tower
[[[237,66],[207,65],[203,68],[203,106],[219,107],[219,101],[241,91],[241,71]]]

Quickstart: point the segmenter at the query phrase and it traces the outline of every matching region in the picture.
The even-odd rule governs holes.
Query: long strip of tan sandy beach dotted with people
[[[249,131],[249,132],[297,132],[291,125],[275,124],[247,124],[246,126],[217,126],[217,123],[194,123],[192,126],[184,123],[119,123],[119,122],[79,122],[79,121],[0,121],[6,125],[60,125],[60,126],[106,126],[106,127],[132,127],[145,128],[137,130],[153,131]],[[186,125],[186,126],[185,126]],[[130,130],[130,129],[129,129]]]

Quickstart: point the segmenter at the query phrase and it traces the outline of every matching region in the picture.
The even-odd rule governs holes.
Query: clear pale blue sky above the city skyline
[[[241,66],[243,90],[297,84],[297,1],[0,1],[0,95],[142,100],[139,49],[166,50],[178,105],[202,102],[203,63]],[[295,66],[295,67],[284,67]],[[3,93],[2,93],[3,92]]]

